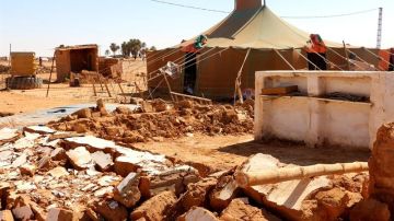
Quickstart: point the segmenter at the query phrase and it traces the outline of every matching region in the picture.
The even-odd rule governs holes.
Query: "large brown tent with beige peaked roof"
[[[234,4],[232,13],[202,33],[208,37],[208,43],[198,54],[181,50],[193,44],[194,38],[148,54],[149,75],[155,75],[158,69],[167,61],[184,63],[179,78],[170,80],[171,89],[182,93],[185,80],[192,73],[192,78],[196,79],[195,95],[219,98],[233,96],[239,72],[242,72],[241,88],[247,90],[254,88],[255,71],[306,68],[302,48],[310,39],[309,33],[277,16],[268,7],[262,5],[262,0],[235,0]],[[378,54],[376,49],[367,51],[367,48],[352,46],[345,49],[343,44],[324,42],[329,47],[327,59],[333,62],[333,70],[347,68],[345,58],[350,51],[378,67],[379,58],[370,54]],[[166,84],[162,82],[162,79],[157,78],[149,81],[149,86],[166,90]]]

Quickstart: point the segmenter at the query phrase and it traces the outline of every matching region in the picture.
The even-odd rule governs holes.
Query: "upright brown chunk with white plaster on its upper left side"
[[[141,198],[138,185],[139,175],[137,173],[130,173],[116,186],[114,199],[127,208],[132,208]]]

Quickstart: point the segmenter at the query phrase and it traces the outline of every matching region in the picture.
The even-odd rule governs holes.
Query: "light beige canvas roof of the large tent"
[[[202,34],[208,36],[206,47],[287,49],[301,48],[310,39],[309,33],[287,23],[267,7],[234,10],[223,21]],[[189,45],[193,40],[178,46]],[[339,43],[325,39],[324,42],[328,47],[343,47]]]

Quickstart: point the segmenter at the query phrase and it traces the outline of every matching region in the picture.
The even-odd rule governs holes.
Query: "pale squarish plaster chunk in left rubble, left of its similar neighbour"
[[[82,171],[94,165],[90,152],[84,147],[79,147],[66,152],[70,163],[76,170]]]

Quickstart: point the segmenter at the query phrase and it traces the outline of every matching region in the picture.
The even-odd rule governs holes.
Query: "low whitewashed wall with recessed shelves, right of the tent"
[[[263,88],[285,85],[298,85],[301,96],[260,95]],[[255,89],[255,139],[372,148],[378,128],[394,121],[394,75],[387,72],[260,71]],[[370,102],[323,98],[333,92]]]

